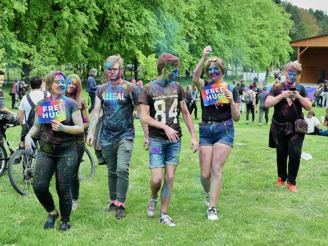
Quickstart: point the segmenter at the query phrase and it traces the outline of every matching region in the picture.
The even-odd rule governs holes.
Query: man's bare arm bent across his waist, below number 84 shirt
[[[154,118],[149,116],[149,106],[148,105],[143,104],[143,103],[140,104],[140,115],[139,116],[141,117],[141,120],[145,124],[147,124],[151,127],[154,127],[154,128],[164,130],[164,132],[165,132],[165,134],[166,134],[166,136],[167,136],[167,138],[170,142],[176,143],[179,140],[179,137],[177,135],[177,133],[178,133],[177,131],[175,131],[173,128],[165,125],[162,122],[156,121]]]

